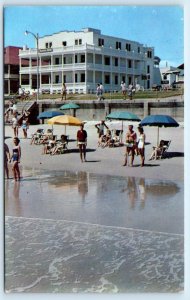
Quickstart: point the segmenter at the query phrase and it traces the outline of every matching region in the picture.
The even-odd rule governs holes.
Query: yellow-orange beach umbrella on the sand
[[[55,124],[55,125],[65,125],[65,133],[66,133],[66,126],[80,126],[84,124],[83,121],[79,120],[76,117],[70,116],[70,115],[63,115],[63,116],[57,116],[53,117],[48,120],[48,124]]]

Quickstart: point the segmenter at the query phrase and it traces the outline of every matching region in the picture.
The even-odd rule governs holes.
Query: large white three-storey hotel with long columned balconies
[[[19,59],[20,85],[30,92],[37,87],[37,74],[40,93],[60,93],[63,82],[68,93],[94,93],[100,82],[105,91],[119,91],[121,81],[145,89],[154,83],[153,47],[93,28],[39,37],[38,51],[23,48]]]

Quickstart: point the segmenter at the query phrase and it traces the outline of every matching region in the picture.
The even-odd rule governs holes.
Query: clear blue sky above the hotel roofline
[[[85,27],[155,47],[168,65],[184,62],[184,18],[181,6],[7,6],[4,46],[35,46],[25,30],[44,36]]]

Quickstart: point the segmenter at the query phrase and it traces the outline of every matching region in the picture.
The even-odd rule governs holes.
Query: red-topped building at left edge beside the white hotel
[[[11,95],[19,89],[19,50],[21,47],[4,48],[4,95]]]

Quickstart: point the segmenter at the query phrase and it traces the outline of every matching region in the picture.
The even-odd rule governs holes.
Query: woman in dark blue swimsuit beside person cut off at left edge
[[[19,181],[20,180],[20,170],[19,170],[19,162],[20,162],[20,158],[21,158],[21,148],[20,148],[20,140],[18,137],[15,137],[13,139],[14,142],[14,147],[13,147],[13,154],[11,157],[11,160],[13,160],[13,175],[14,175],[14,179],[15,181]]]

